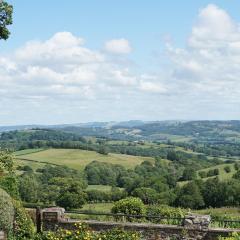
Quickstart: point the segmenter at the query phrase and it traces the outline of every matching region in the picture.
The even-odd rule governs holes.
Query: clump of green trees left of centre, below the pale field
[[[25,171],[18,177],[19,194],[24,202],[81,207],[87,200],[87,183],[81,173],[64,166],[45,166]]]

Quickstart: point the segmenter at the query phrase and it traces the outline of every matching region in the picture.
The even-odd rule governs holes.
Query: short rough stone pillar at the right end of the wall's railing
[[[186,228],[208,230],[211,223],[210,215],[198,215],[189,213],[185,216],[183,226]]]

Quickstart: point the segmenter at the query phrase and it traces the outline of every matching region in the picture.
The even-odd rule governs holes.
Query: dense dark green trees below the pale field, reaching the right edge
[[[211,176],[218,174],[215,169],[210,172],[214,173]],[[145,204],[160,203],[199,209],[238,206],[240,203],[239,171],[229,181],[220,181],[217,176],[203,181],[195,177],[192,179],[196,173],[191,168],[185,168],[182,171],[181,165],[164,164],[161,159],[156,159],[154,164],[146,161],[134,170],[126,170],[121,166],[108,163],[93,162],[85,168],[85,173],[90,184],[124,188],[128,196],[138,197]],[[183,178],[192,181],[180,187],[177,181]],[[211,190],[209,186],[212,186]]]

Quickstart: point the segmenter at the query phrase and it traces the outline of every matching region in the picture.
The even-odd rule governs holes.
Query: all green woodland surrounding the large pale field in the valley
[[[4,178],[1,186],[15,191],[15,195],[24,202],[57,204],[65,208],[79,208],[85,202],[117,201],[127,196],[137,197],[144,204],[167,204],[185,208],[203,208],[216,206],[236,206],[239,204],[239,173],[228,182],[220,182],[219,169],[200,171],[201,178],[212,177],[207,181],[197,180],[197,170],[219,163],[218,159],[208,159],[203,154],[176,151],[174,148],[140,147],[135,144],[108,144],[104,139],[89,142],[72,133],[56,130],[33,129],[3,133],[0,141],[32,146],[52,146],[74,148],[87,147],[101,154],[108,151],[119,152],[132,149],[139,154],[154,156],[155,162],[145,161],[134,169],[125,169],[121,165],[93,161],[83,172],[63,166],[46,165],[34,172],[29,166],[19,166],[22,172],[17,178]],[[28,145],[29,146],[29,145]],[[3,158],[4,159],[4,158]],[[166,161],[166,159],[168,161]],[[239,170],[239,163],[234,165]],[[230,169],[231,170],[231,169]],[[229,166],[225,167],[229,172]],[[182,187],[178,181],[190,181]],[[109,192],[87,190],[87,185],[110,185]],[[213,186],[211,195],[209,186]],[[18,186],[18,187],[16,187]],[[17,189],[18,188],[18,189]],[[214,190],[215,189],[215,190]],[[224,194],[224,193],[228,194]]]

